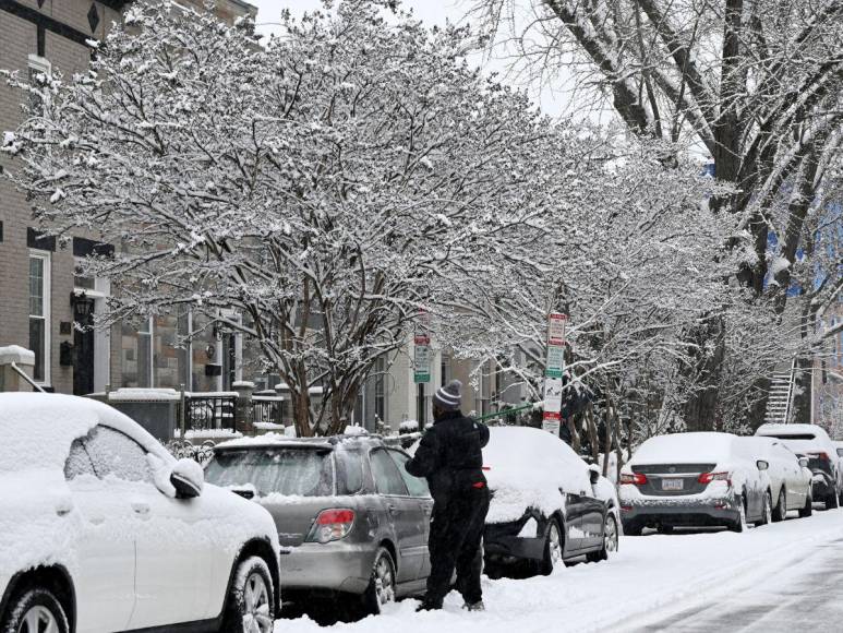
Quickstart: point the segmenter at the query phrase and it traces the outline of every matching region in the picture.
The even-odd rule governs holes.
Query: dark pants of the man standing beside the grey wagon
[[[431,517],[431,575],[424,602],[441,607],[450,590],[450,578],[457,570],[457,589],[467,604],[483,598],[480,572],[483,565],[481,541],[489,512],[489,489],[468,492],[436,501]]]

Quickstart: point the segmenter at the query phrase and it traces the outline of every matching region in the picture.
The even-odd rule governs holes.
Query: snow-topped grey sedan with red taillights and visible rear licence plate
[[[723,526],[743,532],[770,514],[766,461],[728,433],[650,438],[621,471],[624,533]]]

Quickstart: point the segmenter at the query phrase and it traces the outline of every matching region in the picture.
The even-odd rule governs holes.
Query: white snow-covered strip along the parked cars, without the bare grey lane
[[[484,577],[484,613],[461,611],[459,596],[451,593],[442,612],[416,613],[418,602],[405,600],[380,617],[330,629],[356,633],[629,631],[660,614],[711,602],[783,572],[817,545],[838,540],[841,534],[843,511],[836,510],[745,534],[627,537],[607,563],[579,564],[550,577],[522,581]],[[279,622],[276,631],[324,629],[300,618]]]

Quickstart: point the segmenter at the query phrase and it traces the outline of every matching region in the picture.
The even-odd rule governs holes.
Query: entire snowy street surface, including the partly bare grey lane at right
[[[451,593],[445,611],[414,613],[418,602],[341,631],[796,631],[838,620],[843,576],[843,512],[752,528],[745,534],[677,530],[622,539],[607,563],[577,564],[550,577],[489,581],[486,612],[467,613]],[[280,632],[323,631],[301,618]]]

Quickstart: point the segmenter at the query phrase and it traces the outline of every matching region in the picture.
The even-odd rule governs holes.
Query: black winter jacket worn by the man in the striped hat
[[[419,443],[407,471],[427,479],[434,501],[485,488],[482,449],[489,428],[460,411],[449,411],[433,423]]]

